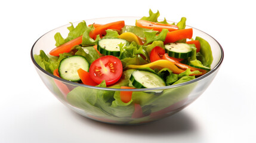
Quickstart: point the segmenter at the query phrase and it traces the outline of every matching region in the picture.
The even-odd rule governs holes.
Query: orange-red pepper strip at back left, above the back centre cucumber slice
[[[92,39],[96,39],[97,35],[100,35],[100,37],[106,35],[107,29],[116,29],[121,30],[122,27],[125,26],[125,21],[116,21],[112,23],[103,24],[101,26],[96,27],[94,30],[90,32],[90,37]]]

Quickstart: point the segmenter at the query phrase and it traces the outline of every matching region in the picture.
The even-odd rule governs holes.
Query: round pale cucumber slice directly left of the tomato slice
[[[72,55],[70,57],[63,58],[63,60],[60,61],[58,73],[62,79],[77,82],[81,80],[78,75],[78,69],[80,68],[85,71],[89,71],[88,61],[81,55]]]

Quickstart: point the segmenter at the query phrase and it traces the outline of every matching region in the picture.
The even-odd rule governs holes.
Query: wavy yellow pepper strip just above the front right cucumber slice
[[[185,70],[179,69],[177,66],[175,66],[174,63],[168,60],[157,60],[153,61],[152,63],[149,64],[144,64],[144,65],[133,65],[130,64],[127,66],[127,69],[138,69],[138,68],[144,68],[144,67],[149,67],[150,69],[164,69],[165,67],[170,69],[173,73],[175,74],[180,74],[184,72]]]

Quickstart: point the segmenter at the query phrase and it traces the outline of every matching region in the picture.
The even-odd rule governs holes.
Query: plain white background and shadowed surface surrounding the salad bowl
[[[148,16],[217,39],[220,71],[201,97],[180,113],[141,126],[86,119],[61,104],[39,79],[33,43],[69,22]],[[5,1],[0,3],[0,142],[256,142],[256,19],[253,1]]]

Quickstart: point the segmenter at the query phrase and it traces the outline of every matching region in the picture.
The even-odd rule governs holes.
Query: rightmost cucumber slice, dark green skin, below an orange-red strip
[[[167,43],[165,52],[168,53],[169,57],[188,58],[192,55],[192,48],[187,43]]]

